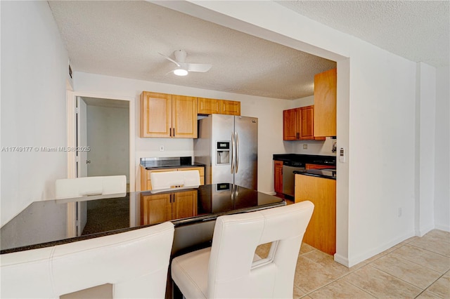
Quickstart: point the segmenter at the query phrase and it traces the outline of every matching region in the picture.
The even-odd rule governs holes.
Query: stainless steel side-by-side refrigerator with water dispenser
[[[206,184],[257,190],[258,119],[223,114],[199,119],[194,161],[205,164]]]

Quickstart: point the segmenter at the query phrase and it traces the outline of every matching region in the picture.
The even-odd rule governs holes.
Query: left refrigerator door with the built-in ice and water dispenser
[[[217,161],[217,142],[229,142],[231,146],[231,135],[234,128],[234,116],[224,114],[210,115],[212,121],[211,127],[211,177],[212,184],[222,182],[233,183],[233,173],[230,164],[221,164]],[[230,148],[231,150],[231,148]],[[230,157],[231,158],[231,157]]]

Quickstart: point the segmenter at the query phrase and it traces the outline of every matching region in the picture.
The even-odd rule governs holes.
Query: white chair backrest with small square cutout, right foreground
[[[217,218],[207,298],[293,298],[295,266],[313,210],[311,201],[302,201]],[[269,242],[268,257],[255,260],[257,246]]]

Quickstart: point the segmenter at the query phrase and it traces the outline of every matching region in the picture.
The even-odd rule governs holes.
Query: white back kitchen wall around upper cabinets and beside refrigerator
[[[136,190],[140,190],[139,161],[143,157],[192,157],[193,139],[188,138],[140,138],[139,137],[139,95],[142,91],[191,95],[203,98],[221,98],[240,101],[241,115],[259,119],[258,136],[258,190],[274,191],[273,154],[290,152],[283,142],[283,109],[291,106],[290,100],[262,98],[236,93],[224,93],[186,86],[174,86],[150,81],[108,77],[98,74],[75,72],[74,89],[78,93],[98,94],[100,98],[127,97],[135,100],[135,164]],[[165,151],[160,152],[160,145]]]

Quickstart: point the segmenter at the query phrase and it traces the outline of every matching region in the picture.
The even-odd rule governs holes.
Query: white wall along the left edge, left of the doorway
[[[1,1],[1,225],[65,178],[68,54],[46,1]],[[37,151],[35,150],[37,148]],[[65,227],[64,227],[65,230]]]

